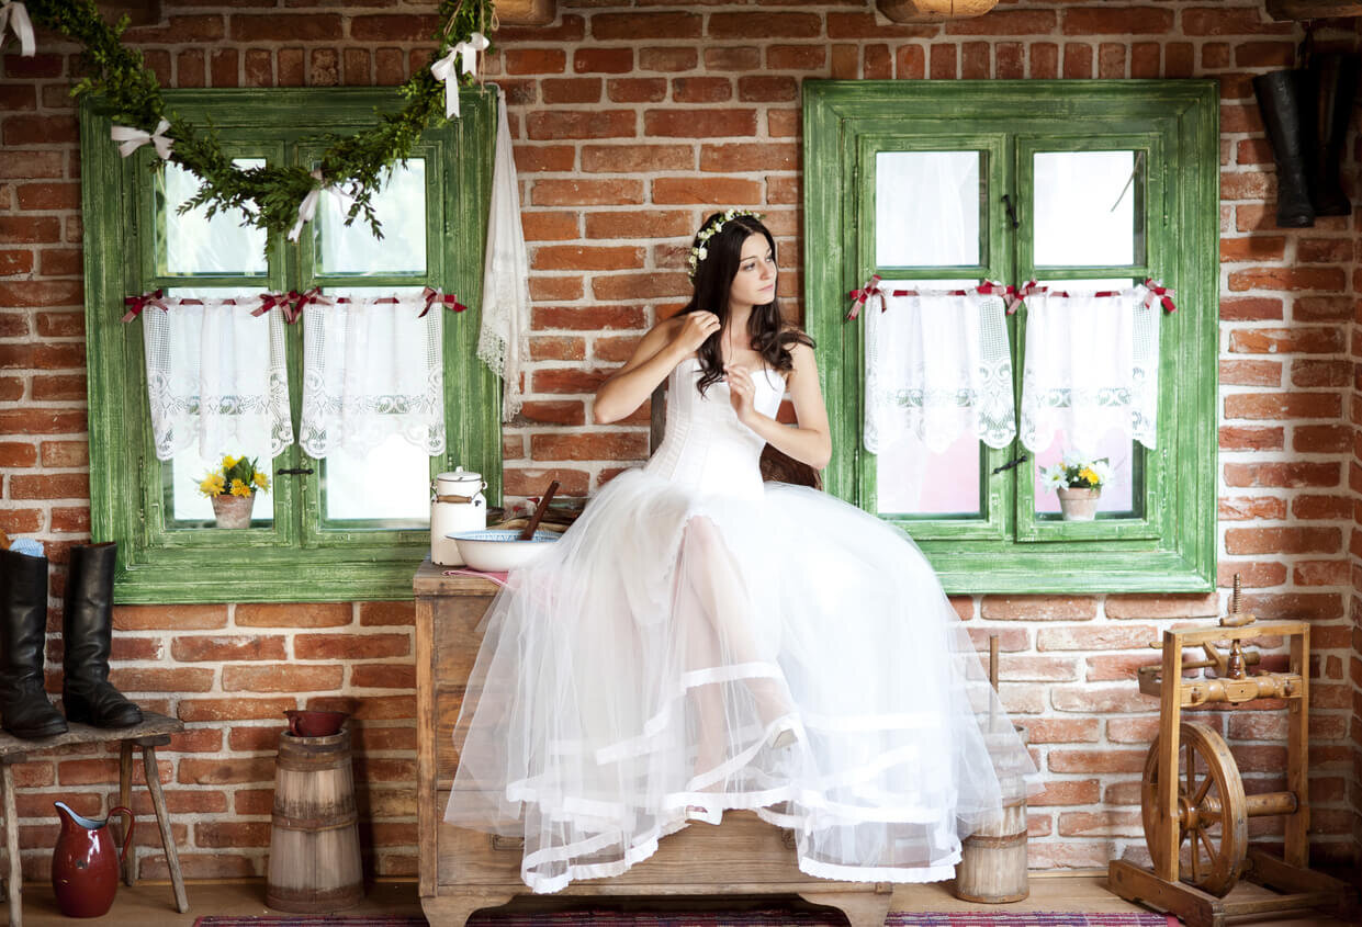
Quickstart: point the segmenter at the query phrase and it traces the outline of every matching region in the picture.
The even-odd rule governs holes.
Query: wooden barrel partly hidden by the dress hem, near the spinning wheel
[[[1026,742],[1026,728],[1016,728]],[[1001,781],[1002,810],[960,841],[955,897],[979,904],[1008,904],[1031,894],[1027,883],[1026,783]]]

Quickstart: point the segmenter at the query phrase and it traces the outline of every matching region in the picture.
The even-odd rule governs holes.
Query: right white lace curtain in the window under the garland
[[[444,453],[444,313],[425,308],[421,295],[399,295],[302,310],[298,444],[309,456],[362,451],[394,434]]]

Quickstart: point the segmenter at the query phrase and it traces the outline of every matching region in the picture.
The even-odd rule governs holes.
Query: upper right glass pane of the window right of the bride
[[[1144,152],[1041,151],[1035,166],[1035,264],[1118,267],[1144,260]]]

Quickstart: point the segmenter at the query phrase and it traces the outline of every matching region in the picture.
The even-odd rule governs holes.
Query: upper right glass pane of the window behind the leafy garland
[[[345,225],[349,206],[323,193],[317,204],[317,274],[422,274],[425,272],[425,161],[411,158],[396,165],[388,182],[373,197],[383,225],[375,238],[364,216]]]

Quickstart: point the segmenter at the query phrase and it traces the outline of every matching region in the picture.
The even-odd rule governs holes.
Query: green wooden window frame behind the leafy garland
[[[445,452],[429,472],[462,464],[501,498],[500,381],[477,359],[482,255],[486,241],[496,142],[494,90],[467,90],[462,118],[428,128],[413,157],[425,159],[425,271],[400,275],[332,275],[316,267],[312,226],[298,242],[267,235],[268,270],[256,276],[172,276],[157,267],[159,162],[151,146],[121,158],[109,142],[110,118],[99,101],[80,108],[84,221],[86,342],[90,402],[90,502],[94,540],[118,542],[114,598],[120,603],[336,602],[398,599],[429,551],[425,528],[373,528],[323,523],[323,461],[297,444],[274,459],[279,475],[262,504],[266,527],[184,528],[168,524],[166,475],[150,427],[140,320],[121,323],[123,299],[187,286],[306,291],[321,286],[421,286],[458,293],[467,312],[444,319]],[[168,105],[185,118],[211,123],[233,157],[305,163],[330,133],[350,135],[391,112],[388,88],[178,90]],[[362,222],[362,219],[357,219]],[[252,290],[253,291],[253,290]],[[155,312],[154,309],[151,312]],[[286,327],[294,433],[302,391],[302,323]],[[163,472],[165,471],[165,472]],[[178,478],[178,476],[177,476]],[[381,479],[381,475],[376,476]]]

